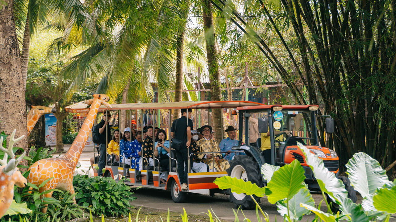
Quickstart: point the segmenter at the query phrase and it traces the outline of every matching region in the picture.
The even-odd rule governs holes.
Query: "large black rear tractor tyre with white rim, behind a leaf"
[[[230,168],[227,170],[230,177],[236,177],[237,179],[243,179],[244,181],[250,181],[257,184],[257,186],[263,187],[263,179],[260,173],[257,162],[246,155],[237,155],[230,162]],[[230,202],[234,203],[234,207],[238,209],[255,209],[256,203],[246,194],[236,194],[228,189],[230,194]],[[260,203],[260,197],[253,195],[257,203]]]

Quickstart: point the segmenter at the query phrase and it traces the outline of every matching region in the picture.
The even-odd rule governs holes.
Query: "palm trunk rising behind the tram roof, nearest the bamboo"
[[[202,14],[204,19],[206,55],[208,57],[209,80],[211,100],[221,100],[220,90],[220,73],[219,62],[217,56],[217,47],[215,44],[215,30],[213,23],[212,4],[209,0],[202,0]],[[221,109],[213,109],[213,129],[215,131],[215,139],[219,143],[222,138],[223,121],[221,118]]]

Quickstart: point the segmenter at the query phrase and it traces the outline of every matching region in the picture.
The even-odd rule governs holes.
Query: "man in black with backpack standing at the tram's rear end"
[[[107,114],[107,115],[106,115]],[[99,125],[99,160],[98,160],[98,176],[102,176],[102,169],[106,166],[106,144],[109,144],[111,141],[111,132],[110,132],[110,124],[109,120],[111,119],[110,112],[103,112],[103,119],[98,123]],[[107,141],[106,141],[106,126],[107,126]]]

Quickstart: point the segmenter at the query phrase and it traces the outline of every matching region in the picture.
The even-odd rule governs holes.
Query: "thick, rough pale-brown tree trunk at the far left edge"
[[[25,87],[12,0],[2,3],[0,30],[0,130],[10,135],[16,129],[15,137],[25,135],[16,146],[27,150]]]

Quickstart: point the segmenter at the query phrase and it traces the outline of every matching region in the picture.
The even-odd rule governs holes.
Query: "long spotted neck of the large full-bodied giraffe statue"
[[[85,143],[87,142],[100,105],[101,102],[99,99],[95,99],[93,101],[88,115],[82,124],[80,132],[78,132],[76,139],[74,139],[72,145],[65,154],[65,158],[73,163],[73,167],[76,167],[77,162],[80,159],[82,150],[84,149]]]

